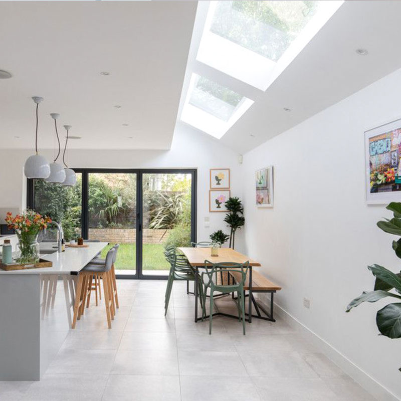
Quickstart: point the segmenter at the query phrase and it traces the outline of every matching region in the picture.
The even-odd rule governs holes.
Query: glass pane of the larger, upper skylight
[[[210,31],[277,61],[317,9],[316,1],[219,2]]]

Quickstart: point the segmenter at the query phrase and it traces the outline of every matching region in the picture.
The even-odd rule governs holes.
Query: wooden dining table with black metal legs
[[[239,263],[244,264],[249,262],[249,299],[252,298],[252,268],[261,266],[261,264],[246,255],[241,254],[231,248],[220,248],[219,256],[211,256],[211,248],[193,248],[193,247],[181,247],[177,248],[185,257],[188,259],[189,264],[195,270],[195,283],[194,283],[194,294],[195,294],[195,323],[198,321],[197,317],[197,306],[198,306],[198,290],[197,290],[197,280],[199,275],[199,269],[206,269],[213,264],[218,263]],[[248,322],[252,322],[252,302],[248,302]],[[230,315],[223,312],[214,313],[215,315],[223,315],[229,317],[238,316]]]

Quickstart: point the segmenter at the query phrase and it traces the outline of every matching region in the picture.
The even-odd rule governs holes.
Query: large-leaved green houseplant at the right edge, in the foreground
[[[401,203],[391,202],[386,209],[393,213],[393,218],[379,221],[377,226],[385,233],[401,237]],[[401,259],[401,238],[392,242],[392,249],[395,255]],[[347,312],[362,302],[376,302],[386,297],[401,300],[401,272],[393,273],[376,264],[367,268],[376,278],[373,291],[363,291],[359,297],[353,299],[347,306]],[[389,338],[400,338],[401,302],[390,303],[381,308],[376,314],[376,325],[382,335]]]

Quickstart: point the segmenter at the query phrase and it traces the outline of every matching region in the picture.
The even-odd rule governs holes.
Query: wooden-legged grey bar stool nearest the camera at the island
[[[77,293],[75,296],[74,304],[74,318],[71,327],[74,329],[77,320],[80,320],[84,314],[85,301],[88,297],[89,283],[92,282],[93,276],[97,274],[99,278],[103,280],[103,291],[104,291],[104,303],[106,305],[106,316],[107,325],[111,329],[111,320],[114,320],[114,308],[113,308],[113,291],[112,291],[112,277],[111,277],[111,266],[113,264],[113,256],[115,250],[112,248],[107,252],[105,263],[102,265],[87,264],[79,273]]]

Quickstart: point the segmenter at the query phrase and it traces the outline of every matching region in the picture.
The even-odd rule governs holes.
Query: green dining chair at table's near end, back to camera
[[[239,263],[217,263],[214,264],[209,261],[205,261],[206,271],[200,275],[202,283],[205,288],[203,291],[204,301],[203,301],[203,316],[206,316],[206,294],[208,288],[210,289],[210,314],[209,314],[209,334],[212,334],[212,322],[213,322],[213,293],[218,291],[222,294],[237,293],[237,307],[238,307],[238,318],[243,325],[244,335],[245,335],[245,294],[244,294],[244,283],[247,278],[247,273],[249,269],[249,262],[244,264]],[[225,272],[228,275],[230,272],[240,272],[241,280],[237,280],[232,284],[218,284],[217,276],[219,273]]]

